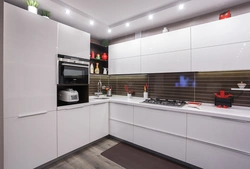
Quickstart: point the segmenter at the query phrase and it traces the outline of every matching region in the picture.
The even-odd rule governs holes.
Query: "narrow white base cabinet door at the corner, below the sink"
[[[109,103],[90,106],[90,142],[109,134]]]

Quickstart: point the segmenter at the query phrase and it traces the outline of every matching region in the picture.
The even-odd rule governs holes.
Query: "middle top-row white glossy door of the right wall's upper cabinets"
[[[190,27],[141,39],[141,55],[190,50]]]

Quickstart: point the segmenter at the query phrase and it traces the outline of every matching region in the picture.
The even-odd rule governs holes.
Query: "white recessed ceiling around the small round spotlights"
[[[26,9],[25,1],[5,0]],[[113,39],[197,17],[250,0],[38,0],[51,19],[89,32],[95,39]],[[184,4],[184,9],[178,7]],[[65,10],[69,9],[70,14]],[[149,20],[148,15],[153,19]],[[90,20],[94,25],[90,25]],[[130,26],[126,27],[125,23]],[[111,33],[108,33],[111,29]]]

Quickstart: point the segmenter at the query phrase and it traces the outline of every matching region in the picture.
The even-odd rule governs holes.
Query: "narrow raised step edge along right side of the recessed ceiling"
[[[144,13],[142,13],[142,14],[136,15],[136,16],[134,16],[134,17],[131,17],[131,18],[128,18],[128,19],[124,19],[124,20],[119,21],[119,22],[117,22],[117,23],[111,24],[111,25],[109,25],[109,27],[110,27],[110,28],[114,28],[114,27],[123,25],[123,24],[126,23],[126,22],[132,22],[132,21],[137,20],[137,19],[139,19],[139,18],[148,16],[149,13],[154,14],[154,13],[163,11],[163,10],[165,10],[165,9],[168,9],[168,8],[171,8],[171,7],[174,7],[174,6],[177,6],[177,5],[179,5],[180,3],[185,3],[185,2],[188,2],[188,1],[191,1],[191,0],[178,0],[178,1],[173,2],[173,3],[171,3],[171,4],[167,4],[167,5],[161,6],[161,7],[159,7],[159,8],[156,8],[156,9],[153,9],[153,10],[150,10],[150,11],[147,11],[147,12],[144,12]]]

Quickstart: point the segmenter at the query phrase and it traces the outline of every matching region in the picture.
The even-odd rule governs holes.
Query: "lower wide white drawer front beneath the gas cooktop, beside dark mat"
[[[186,139],[140,127],[134,127],[134,143],[185,161]]]

